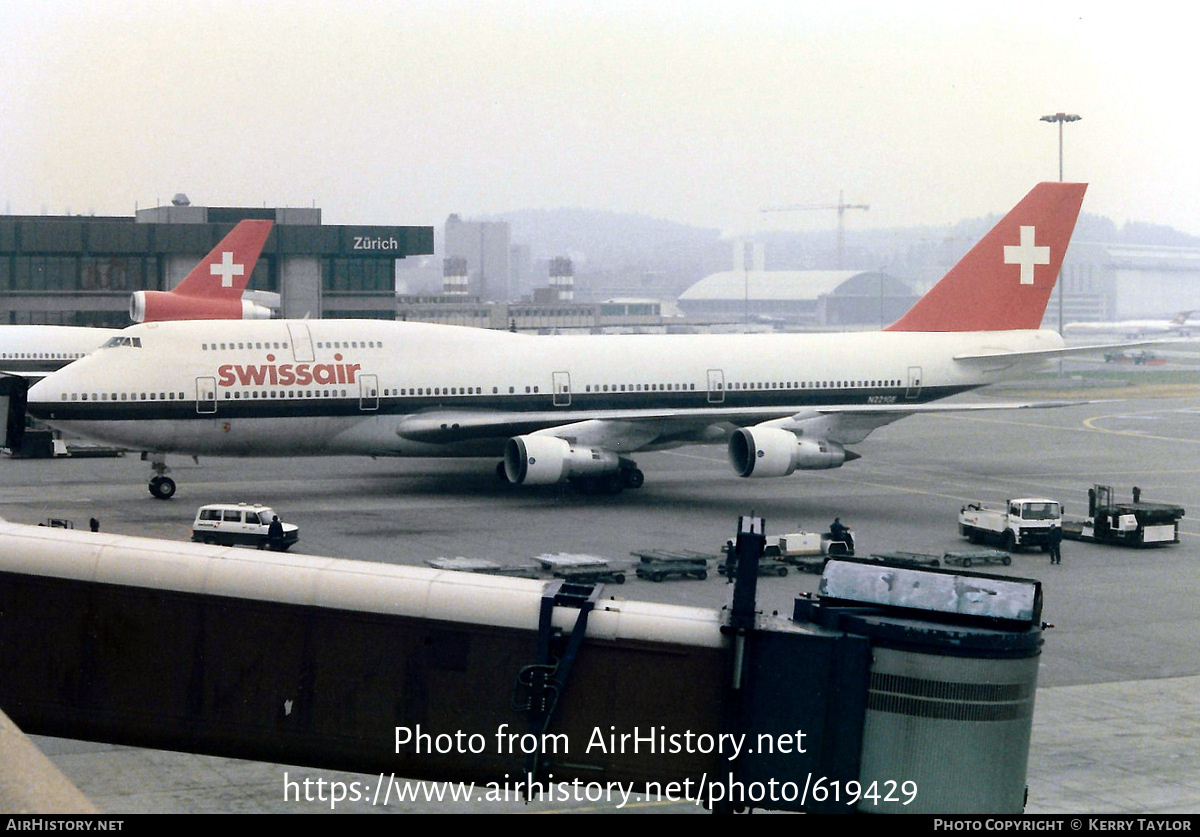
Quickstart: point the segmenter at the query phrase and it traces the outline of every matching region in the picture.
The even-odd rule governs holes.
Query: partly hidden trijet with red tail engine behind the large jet
[[[137,290],[134,323],[197,319],[269,319],[271,309],[245,299],[272,221],[241,221],[172,290]],[[118,329],[72,325],[0,326],[0,372],[41,378],[95,351]]]

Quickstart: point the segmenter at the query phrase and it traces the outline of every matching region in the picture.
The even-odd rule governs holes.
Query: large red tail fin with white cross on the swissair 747
[[[1042,325],[1086,183],[1038,183],[886,331],[1009,331]]]

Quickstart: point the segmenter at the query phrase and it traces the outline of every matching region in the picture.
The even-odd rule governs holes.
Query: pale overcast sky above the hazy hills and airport
[[[1200,235],[1195,12],[1154,2],[0,0],[0,210],[940,224],[1039,180]],[[1180,17],[1183,14],[1184,17]],[[1136,16],[1136,17],[1133,17]]]

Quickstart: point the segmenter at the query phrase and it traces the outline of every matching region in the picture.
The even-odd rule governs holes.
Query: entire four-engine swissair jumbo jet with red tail
[[[146,323],[29,391],[148,452],[491,456],[511,483],[642,484],[636,451],[724,442],[743,477],[839,468],[898,418],[1073,354],[1042,317],[1086,186],[1036,186],[880,332],[535,337],[378,320]],[[11,426],[11,422],[10,422]]]

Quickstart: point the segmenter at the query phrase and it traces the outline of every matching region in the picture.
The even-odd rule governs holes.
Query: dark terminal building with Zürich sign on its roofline
[[[170,206],[134,217],[0,216],[0,324],[130,325],[130,295],[170,290],[234,224],[275,222],[250,290],[289,318],[396,317],[396,261],[432,227],[324,225],[319,209]]]

